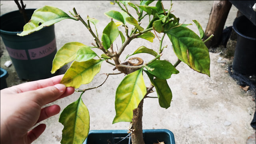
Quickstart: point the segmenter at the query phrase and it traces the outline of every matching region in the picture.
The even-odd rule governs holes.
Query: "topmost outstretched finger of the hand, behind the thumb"
[[[37,89],[40,89],[40,88],[46,88],[48,86],[54,86],[56,84],[59,84],[60,80],[62,79],[63,76],[64,76],[64,74],[54,76],[52,78],[47,78],[47,79],[44,79],[44,80],[26,82],[24,84],[19,84],[17,86],[12,86],[10,88],[12,88],[12,90],[16,93],[22,93],[22,92],[27,92],[27,91],[30,91],[30,90],[37,90]]]

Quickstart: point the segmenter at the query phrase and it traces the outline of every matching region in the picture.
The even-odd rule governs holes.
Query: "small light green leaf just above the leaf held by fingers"
[[[79,50],[76,53],[76,61],[77,62],[85,62],[98,56],[93,50],[91,50],[88,46],[80,46]]]

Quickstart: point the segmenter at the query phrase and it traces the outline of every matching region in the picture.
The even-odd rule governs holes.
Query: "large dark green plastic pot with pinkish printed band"
[[[31,19],[34,10],[26,10],[28,19]],[[57,52],[54,25],[27,36],[17,36],[25,25],[18,10],[3,14],[0,23],[1,37],[21,80],[40,80],[57,74],[51,74],[52,61]]]

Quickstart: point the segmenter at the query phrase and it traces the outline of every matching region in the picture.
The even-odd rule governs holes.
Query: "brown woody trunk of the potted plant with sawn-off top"
[[[143,60],[141,58],[130,58],[128,60],[128,66],[139,66],[143,64]],[[127,68],[127,74],[135,72],[138,69]],[[132,118],[132,127],[129,129],[132,133],[132,144],[144,144],[143,133],[142,133],[142,108],[143,101],[140,101],[138,108],[133,110],[133,118]]]

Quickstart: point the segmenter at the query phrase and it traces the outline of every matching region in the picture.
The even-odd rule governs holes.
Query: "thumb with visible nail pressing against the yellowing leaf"
[[[34,102],[44,106],[45,104],[56,100],[66,91],[64,84],[56,84],[54,86],[48,86],[46,88],[40,88],[38,90],[29,91],[29,95],[33,97]]]

